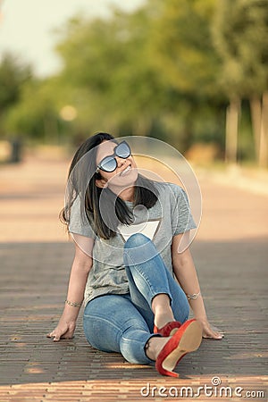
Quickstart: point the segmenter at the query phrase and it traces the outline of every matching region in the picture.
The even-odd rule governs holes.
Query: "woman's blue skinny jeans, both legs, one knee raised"
[[[174,318],[180,322],[188,319],[188,300],[154,243],[143,234],[134,234],[126,241],[124,265],[130,293],[90,300],[84,310],[84,332],[93,348],[121,353],[130,363],[150,364],[145,346],[155,336],[153,298],[167,294]]]

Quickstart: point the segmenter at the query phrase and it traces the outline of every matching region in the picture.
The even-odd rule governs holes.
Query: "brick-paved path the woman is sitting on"
[[[242,387],[243,397],[264,391],[252,400],[266,401],[268,197],[200,174],[204,213],[192,254],[210,321],[225,338],[205,339],[172,379],[89,347],[81,314],[74,339],[46,339],[62,312],[73,256],[57,221],[66,173],[67,163],[53,161],[0,167],[0,402],[187,400],[174,398],[176,390],[195,392],[215,376],[222,384],[214,397],[201,390],[197,400],[241,400],[235,388]],[[229,397],[217,398],[227,386]]]

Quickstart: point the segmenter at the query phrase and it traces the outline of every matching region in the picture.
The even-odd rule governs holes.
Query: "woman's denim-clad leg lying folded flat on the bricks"
[[[152,334],[127,295],[105,295],[91,300],[85,308],[83,324],[93,348],[121,353],[130,363],[152,362],[145,353]]]

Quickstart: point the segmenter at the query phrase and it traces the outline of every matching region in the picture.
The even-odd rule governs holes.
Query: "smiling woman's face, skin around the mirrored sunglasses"
[[[96,152],[96,164],[98,165],[105,156],[113,155],[115,147],[117,147],[117,144],[113,141],[103,141],[98,146]],[[138,170],[132,155],[126,159],[117,155],[113,157],[117,162],[116,169],[113,172],[100,170],[99,173],[102,176],[102,180],[96,180],[96,185],[98,187],[109,187],[119,195],[124,189],[134,186],[138,178]]]

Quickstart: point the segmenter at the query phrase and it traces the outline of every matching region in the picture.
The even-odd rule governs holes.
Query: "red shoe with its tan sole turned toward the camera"
[[[179,377],[179,374],[174,373],[173,369],[183,356],[197,350],[201,341],[202,329],[199,322],[196,319],[184,322],[157,356],[155,368],[158,373]]]

